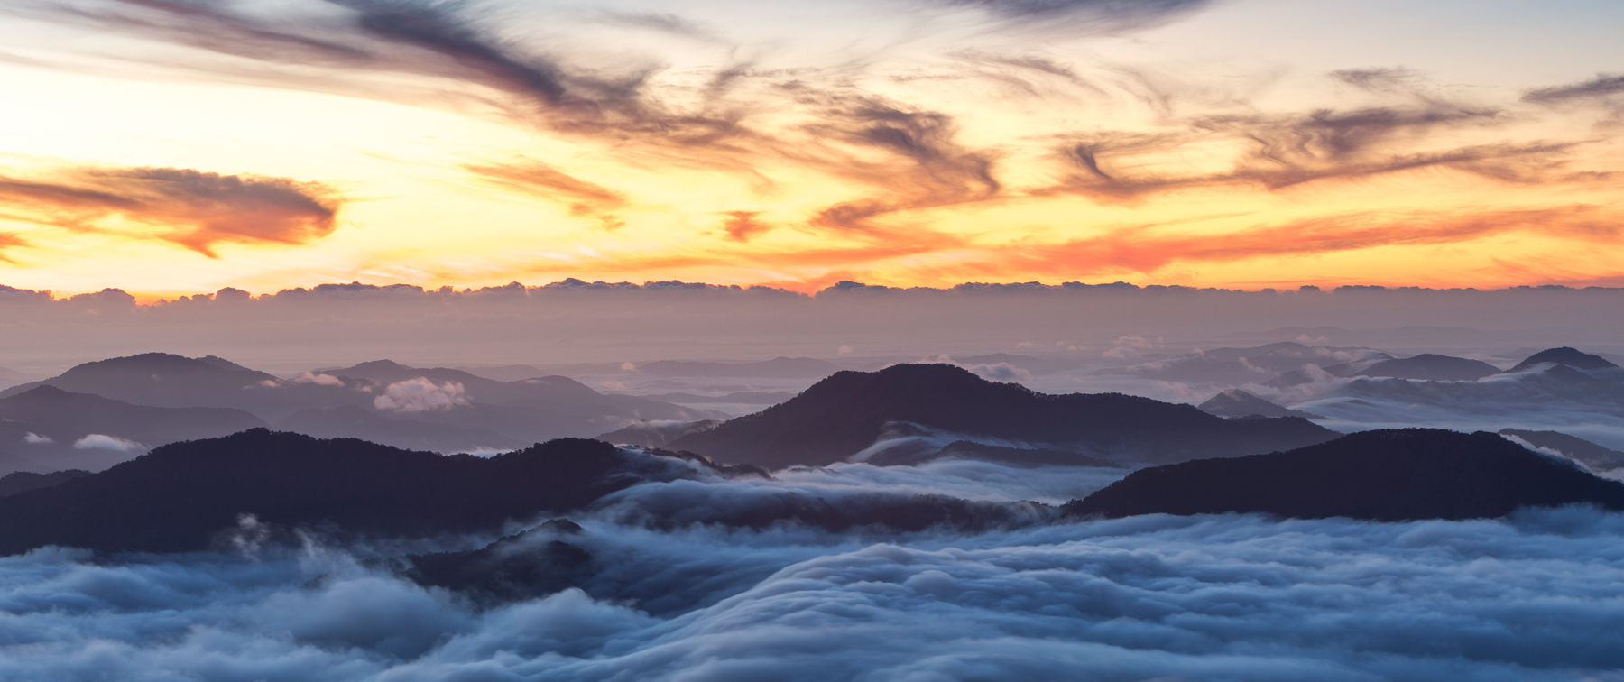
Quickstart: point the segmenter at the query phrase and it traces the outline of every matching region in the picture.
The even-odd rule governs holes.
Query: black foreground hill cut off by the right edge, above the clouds
[[[1624,484],[1497,434],[1369,430],[1286,453],[1140,469],[1083,500],[1075,516],[1270,513],[1372,521],[1494,518],[1518,507],[1624,510]]]

